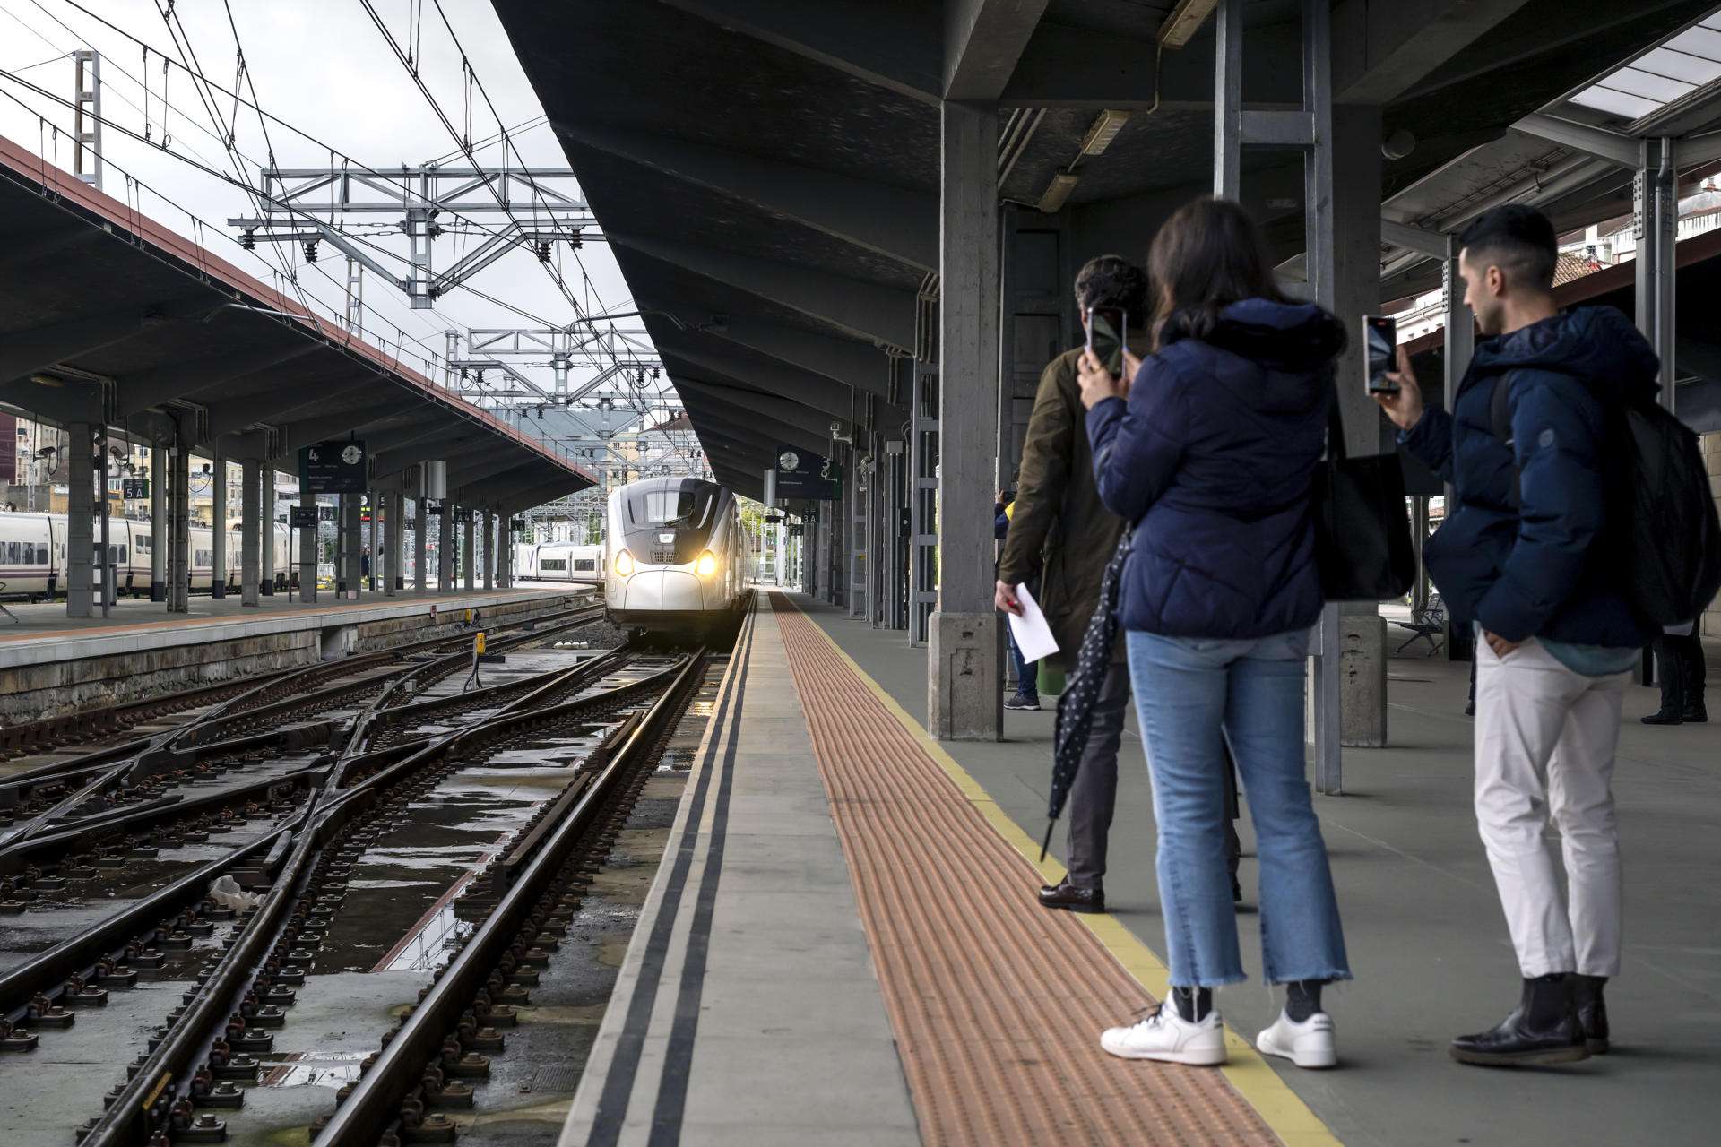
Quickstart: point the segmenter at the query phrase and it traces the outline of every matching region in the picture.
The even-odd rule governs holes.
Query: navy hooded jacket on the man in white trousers
[[[1659,368],[1614,308],[1564,311],[1478,342],[1453,411],[1430,408],[1399,433],[1458,494],[1423,552],[1453,621],[1478,621],[1509,641],[1625,648],[1649,638],[1607,554],[1606,483],[1618,480],[1619,406],[1652,396]],[[1490,425],[1501,385],[1509,445]]]

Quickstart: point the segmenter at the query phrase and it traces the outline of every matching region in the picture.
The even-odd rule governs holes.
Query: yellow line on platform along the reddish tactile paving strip
[[[807,614],[809,621],[817,623],[816,617]],[[862,683],[873,691],[873,696],[885,705],[891,715],[902,722],[902,727],[909,731],[928,757],[938,762],[938,767],[945,770],[962,794],[979,810],[979,815],[986,819],[988,824],[1019,851],[1027,863],[1031,863],[1039,875],[1048,882],[1055,884],[1064,877],[1064,867],[1052,860],[1039,860],[1039,843],[1022,832],[1021,825],[1005,813],[998,801],[988,796],[986,789],[969,776],[969,770],[955,762],[955,758],[947,753],[938,741],[926,733],[919,721],[909,715],[909,712],[897,703],[890,693],[885,691],[878,681],[862,669],[854,657],[843,650],[836,640],[824,631],[824,626],[812,626],[821,638],[824,638],[830,647],[836,652],[848,669],[860,678]],[[1105,951],[1112,953],[1112,958],[1124,966],[1129,975],[1136,978],[1141,987],[1148,991],[1155,999],[1165,999],[1170,991],[1170,973],[1158,956],[1153,954],[1146,944],[1143,944],[1134,932],[1126,929],[1117,917],[1112,913],[1072,913],[1081,920],[1089,932],[1100,941]],[[1267,1123],[1284,1140],[1286,1147],[1335,1147],[1339,1138],[1320,1121],[1308,1104],[1305,1104],[1296,1092],[1292,1092],[1279,1073],[1274,1071],[1267,1061],[1261,1058],[1255,1047],[1244,1040],[1241,1035],[1225,1028],[1225,1051],[1231,1052],[1231,1063],[1227,1063],[1220,1071],[1237,1094],[1255,1107],[1261,1121]]]

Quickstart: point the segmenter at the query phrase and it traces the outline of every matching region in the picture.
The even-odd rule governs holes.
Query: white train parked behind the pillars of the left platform
[[[53,597],[65,590],[65,514],[0,514],[0,597]],[[102,559],[102,524],[96,523],[91,557]],[[227,588],[237,590],[243,576],[243,538],[227,531]],[[193,526],[191,588],[208,592],[215,573],[215,531]],[[289,531],[275,524],[275,581],[287,585]],[[150,592],[150,523],[129,518],[108,519],[108,562],[115,567],[117,593]]]

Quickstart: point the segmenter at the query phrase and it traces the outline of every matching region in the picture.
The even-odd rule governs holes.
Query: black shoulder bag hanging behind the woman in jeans
[[[1404,507],[1404,463],[1397,454],[1344,456],[1337,394],[1311,499],[1315,562],[1329,602],[1387,602],[1409,592],[1416,554]]]

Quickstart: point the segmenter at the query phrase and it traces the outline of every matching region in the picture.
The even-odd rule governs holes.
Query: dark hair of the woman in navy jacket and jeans
[[[1155,346],[1174,318],[1182,334],[1206,339],[1232,303],[1291,303],[1274,280],[1261,232],[1232,199],[1208,196],[1177,208],[1153,236],[1148,277],[1157,292]]]

